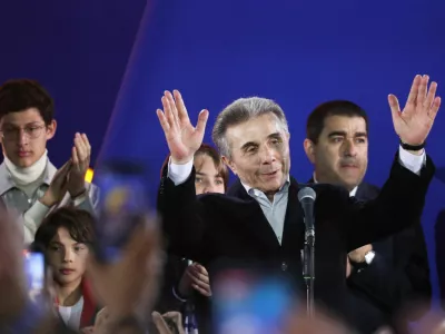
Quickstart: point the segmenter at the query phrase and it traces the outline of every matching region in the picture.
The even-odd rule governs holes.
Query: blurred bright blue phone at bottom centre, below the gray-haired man
[[[294,306],[289,282],[283,277],[229,271],[215,281],[214,327],[217,334],[284,333]]]

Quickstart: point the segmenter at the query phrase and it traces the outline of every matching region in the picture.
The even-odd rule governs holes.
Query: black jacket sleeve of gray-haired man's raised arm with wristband
[[[397,153],[389,178],[377,198],[348,205],[346,213],[340,212],[342,217],[346,217],[342,228],[347,252],[418,223],[434,170],[433,161],[426,157],[424,167],[416,175],[400,165]]]

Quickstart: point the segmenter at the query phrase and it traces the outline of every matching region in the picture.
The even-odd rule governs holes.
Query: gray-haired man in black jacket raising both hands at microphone
[[[441,99],[436,84],[416,76],[400,112],[390,95],[395,131],[402,144],[390,176],[379,196],[366,204],[332,185],[315,185],[315,298],[338,316],[344,301],[346,254],[417,222],[434,174],[423,144],[433,126]],[[158,209],[169,250],[205,265],[214,277],[217,264],[257,265],[281,272],[304,288],[300,250],[305,225],[298,204],[298,183],[290,177],[289,132],[281,108],[263,98],[238,99],[216,120],[212,138],[239,180],[226,195],[195,195],[192,157],[205,132],[208,111],[195,128],[178,91],[162,97],[157,110],[171,154],[164,170]],[[397,219],[396,219],[397,218]],[[210,279],[212,282],[212,279]]]

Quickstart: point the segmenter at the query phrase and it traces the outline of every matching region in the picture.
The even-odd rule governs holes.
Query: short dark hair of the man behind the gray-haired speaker
[[[319,105],[310,112],[306,124],[306,138],[317,144],[325,128],[325,120],[330,116],[364,118],[366,122],[366,132],[368,132],[368,116],[362,107],[347,100],[333,100]]]

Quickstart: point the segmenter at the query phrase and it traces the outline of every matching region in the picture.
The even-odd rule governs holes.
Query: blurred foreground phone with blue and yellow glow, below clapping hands
[[[95,184],[100,191],[95,250],[99,261],[110,263],[149,214],[147,174],[140,164],[109,161],[96,171]]]

